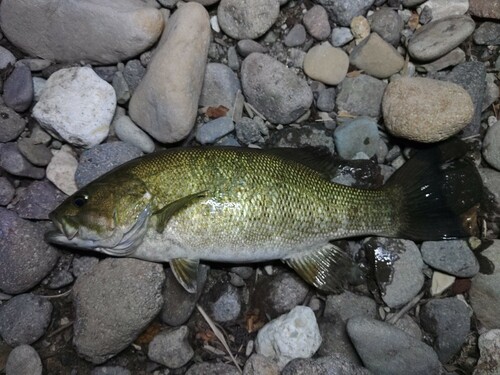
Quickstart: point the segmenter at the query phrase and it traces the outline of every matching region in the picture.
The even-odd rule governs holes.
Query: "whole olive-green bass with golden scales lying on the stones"
[[[463,142],[418,151],[385,185],[330,181],[331,159],[298,149],[187,147],[131,160],[49,214],[52,244],[168,262],[196,292],[200,261],[282,260],[321,291],[357,265],[332,241],[477,235],[482,192]]]

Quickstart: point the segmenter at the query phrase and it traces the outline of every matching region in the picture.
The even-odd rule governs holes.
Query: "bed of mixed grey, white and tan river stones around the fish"
[[[2,0],[0,30],[0,373],[500,373],[498,0]],[[338,241],[371,270],[339,294],[280,262],[204,265],[188,294],[44,241],[67,195],[155,150],[315,147],[379,187],[451,136],[481,238]]]

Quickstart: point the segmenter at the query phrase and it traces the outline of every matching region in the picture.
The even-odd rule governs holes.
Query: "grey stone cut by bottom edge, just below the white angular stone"
[[[290,361],[281,375],[369,375],[370,371],[349,362],[340,356],[320,357],[317,359],[297,358]]]

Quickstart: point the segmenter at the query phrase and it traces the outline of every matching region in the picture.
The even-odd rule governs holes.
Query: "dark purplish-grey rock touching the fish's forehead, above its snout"
[[[14,210],[23,219],[48,220],[49,213],[65,198],[49,181],[34,181],[18,195]]]

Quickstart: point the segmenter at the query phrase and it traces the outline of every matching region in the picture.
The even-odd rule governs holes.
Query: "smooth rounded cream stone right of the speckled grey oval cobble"
[[[328,42],[312,47],[304,59],[304,73],[328,85],[338,85],[349,68],[349,57]]]

